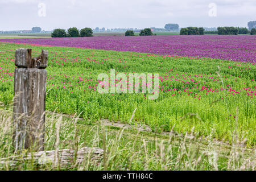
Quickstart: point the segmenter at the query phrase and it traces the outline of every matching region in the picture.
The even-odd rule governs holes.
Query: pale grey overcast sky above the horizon
[[[250,20],[256,20],[256,0],[0,0],[0,30],[247,27]]]

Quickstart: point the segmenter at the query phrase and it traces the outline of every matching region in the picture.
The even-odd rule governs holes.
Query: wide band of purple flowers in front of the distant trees
[[[98,36],[0,41],[256,62],[256,36],[246,35]]]

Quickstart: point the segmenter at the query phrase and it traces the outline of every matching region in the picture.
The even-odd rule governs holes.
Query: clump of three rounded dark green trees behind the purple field
[[[52,32],[52,38],[74,38],[74,37],[84,37],[84,36],[93,36],[92,28],[82,28],[80,31],[76,27],[68,29],[66,32],[64,29],[57,28]]]

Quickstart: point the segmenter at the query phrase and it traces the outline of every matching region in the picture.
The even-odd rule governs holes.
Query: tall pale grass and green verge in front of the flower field
[[[14,156],[12,146],[11,111],[0,109],[0,158]],[[56,130],[60,125],[60,130]],[[234,140],[236,139],[234,133]],[[56,146],[56,138],[59,145]],[[46,117],[46,150],[100,147],[105,158],[98,165],[84,159],[80,165],[71,160],[70,168],[53,164],[35,165],[34,160],[18,166],[0,165],[2,170],[255,170],[255,151],[242,146],[216,142],[212,135],[201,139],[160,135],[137,130],[119,129],[67,118],[58,114]],[[24,151],[26,152],[26,151]],[[57,159],[57,158],[56,158]]]

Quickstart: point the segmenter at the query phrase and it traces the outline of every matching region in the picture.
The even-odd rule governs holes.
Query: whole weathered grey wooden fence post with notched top
[[[46,67],[48,51],[31,57],[32,49],[19,48],[15,53],[14,73],[14,147],[15,151],[44,150],[46,109]]]

